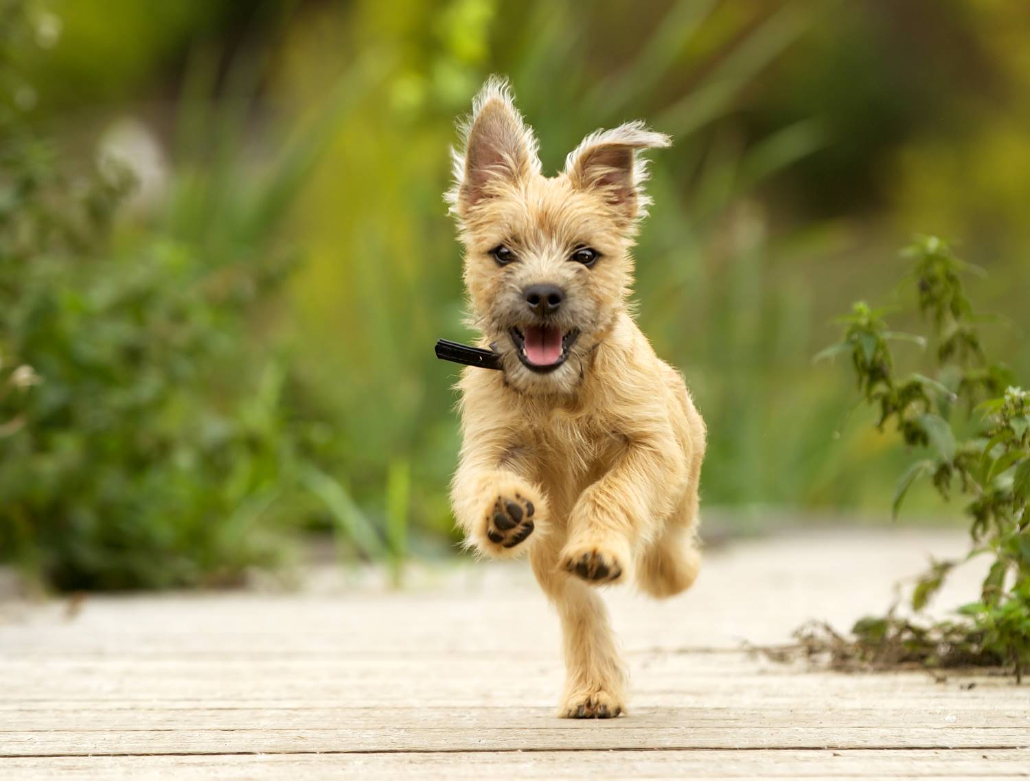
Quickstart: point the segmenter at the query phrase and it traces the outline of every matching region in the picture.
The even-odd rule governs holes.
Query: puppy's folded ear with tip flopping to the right
[[[565,158],[565,175],[577,190],[596,190],[629,220],[647,213],[651,199],[643,190],[647,161],[640,149],[668,146],[672,139],[629,122],[591,133]]]

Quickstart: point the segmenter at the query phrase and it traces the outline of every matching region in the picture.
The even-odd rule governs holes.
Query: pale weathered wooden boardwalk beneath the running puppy
[[[711,552],[668,602],[613,589],[632,699],[609,721],[555,718],[557,622],[524,564],[420,568],[403,592],[334,570],[297,593],[8,601],[0,779],[1026,778],[1030,685],[741,650],[847,627],[962,550],[805,532]]]

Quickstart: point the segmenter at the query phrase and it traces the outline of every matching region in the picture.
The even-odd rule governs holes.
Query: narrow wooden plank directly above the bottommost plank
[[[417,721],[380,728],[307,728],[286,719],[275,727],[254,729],[101,729],[73,727],[67,732],[4,733],[0,756],[89,756],[131,754],[438,752],[438,751],[653,751],[656,749],[1021,749],[1030,748],[1025,726],[930,727],[876,726],[845,722],[771,722],[761,714],[741,714],[756,725],[697,724],[665,713],[648,726],[630,719],[597,725],[557,722],[552,712],[520,713],[517,717],[488,717],[477,713],[471,725],[457,721],[424,724]],[[534,726],[547,720],[547,725]],[[557,722],[557,723],[556,723]],[[1030,753],[1028,753],[1030,756]]]

